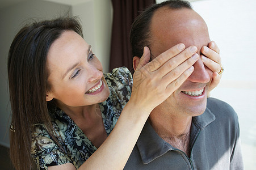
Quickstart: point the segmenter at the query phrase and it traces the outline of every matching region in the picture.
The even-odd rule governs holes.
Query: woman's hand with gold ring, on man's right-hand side
[[[221,74],[219,74],[221,72],[220,49],[214,41],[211,41],[209,42],[208,47],[202,47],[201,52],[204,54],[204,56],[201,56],[204,65],[213,71],[213,79],[208,90],[209,96],[209,92],[219,84],[221,79]]]

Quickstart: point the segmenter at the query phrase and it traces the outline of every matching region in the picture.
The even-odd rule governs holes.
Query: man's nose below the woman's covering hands
[[[187,80],[195,83],[208,83],[211,78],[204,67],[204,63],[199,59],[194,65],[193,73],[188,77]]]

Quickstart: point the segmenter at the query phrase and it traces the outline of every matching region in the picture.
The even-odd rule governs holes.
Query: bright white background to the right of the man
[[[256,168],[256,1],[205,0],[192,2],[208,24],[221,50],[224,73],[211,96],[235,109],[245,169]]]

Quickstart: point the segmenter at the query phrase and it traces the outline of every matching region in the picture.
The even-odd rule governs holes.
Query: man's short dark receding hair
[[[150,23],[154,12],[163,6],[170,9],[189,8],[192,9],[190,2],[182,0],[170,0],[162,3],[155,4],[146,8],[132,24],[130,32],[130,41],[132,46],[132,57],[141,57],[143,54],[144,46],[150,45]]]

